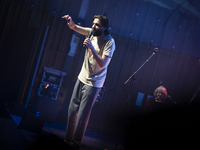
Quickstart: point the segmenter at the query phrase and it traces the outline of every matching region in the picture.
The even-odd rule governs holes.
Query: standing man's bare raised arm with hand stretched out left
[[[64,18],[65,20],[67,20],[67,24],[69,26],[70,29],[82,34],[82,35],[85,35],[85,36],[88,36],[88,31],[84,28],[84,27],[81,27],[77,24],[74,23],[74,21],[72,20],[72,18],[69,16],[69,15],[65,15],[63,16],[62,18]]]

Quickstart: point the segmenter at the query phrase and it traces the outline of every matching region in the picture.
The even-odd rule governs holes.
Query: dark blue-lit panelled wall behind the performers
[[[126,121],[132,123],[141,116],[147,96],[153,95],[160,85],[167,88],[181,107],[187,106],[200,86],[199,0],[1,0],[1,102],[7,107],[15,102],[25,106],[28,101],[28,107],[32,108],[39,99],[42,68],[51,67],[67,73],[57,99],[60,108],[56,119],[66,123],[73,83],[82,66],[85,37],[75,34],[77,52],[69,56],[74,32],[61,18],[65,14],[88,27],[95,14],[106,15],[116,43],[104,84],[106,91],[102,102],[94,105],[88,127],[118,133],[132,85],[132,80],[124,82],[155,47],[159,52],[136,75]],[[47,27],[42,57],[28,98]],[[138,92],[144,94],[141,106],[135,105]],[[192,101],[191,110],[193,105],[198,109],[199,95],[198,92]],[[135,129],[134,125],[132,128]]]

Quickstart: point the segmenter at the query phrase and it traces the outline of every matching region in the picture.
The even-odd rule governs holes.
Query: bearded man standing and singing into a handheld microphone
[[[92,28],[81,27],[69,15],[66,19],[70,29],[85,35],[85,58],[79,73],[68,109],[65,142],[79,149],[89,121],[92,107],[103,86],[107,67],[115,50],[115,41],[108,32],[108,19],[102,15],[93,17]]]

